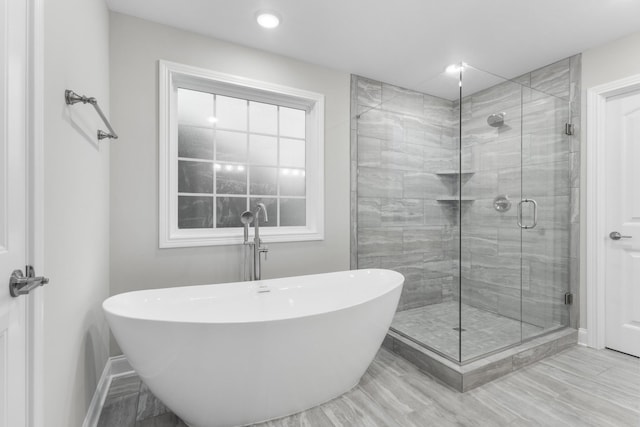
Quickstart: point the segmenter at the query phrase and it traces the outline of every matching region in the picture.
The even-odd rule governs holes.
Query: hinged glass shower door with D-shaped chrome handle
[[[562,82],[562,81],[561,81]],[[569,289],[571,153],[569,84],[523,88],[522,337],[567,326]]]

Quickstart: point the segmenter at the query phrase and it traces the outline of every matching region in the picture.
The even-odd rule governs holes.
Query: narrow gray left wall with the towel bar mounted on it
[[[109,113],[109,14],[102,0],[44,3],[44,422],[82,425],[108,357],[109,143],[90,106]],[[69,17],[73,25],[69,25]]]

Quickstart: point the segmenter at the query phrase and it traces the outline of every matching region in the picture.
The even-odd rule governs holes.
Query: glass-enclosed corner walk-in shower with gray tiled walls
[[[404,274],[393,332],[465,365],[570,325],[579,60],[353,76],[351,263]]]

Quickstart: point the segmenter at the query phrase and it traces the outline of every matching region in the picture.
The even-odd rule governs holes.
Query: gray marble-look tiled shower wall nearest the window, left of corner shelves
[[[399,310],[452,298],[456,207],[453,103],[352,79],[352,267],[404,274]]]

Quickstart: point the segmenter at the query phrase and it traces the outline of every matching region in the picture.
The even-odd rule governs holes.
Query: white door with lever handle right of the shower
[[[605,346],[640,357],[640,91],[606,111]]]

